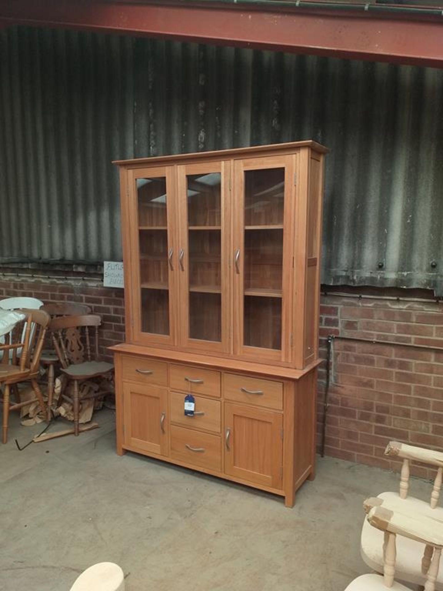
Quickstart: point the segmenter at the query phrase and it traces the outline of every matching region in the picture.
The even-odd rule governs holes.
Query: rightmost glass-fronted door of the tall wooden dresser
[[[234,353],[292,361],[294,155],[234,163]]]

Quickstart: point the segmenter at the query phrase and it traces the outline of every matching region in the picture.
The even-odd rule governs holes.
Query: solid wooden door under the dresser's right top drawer
[[[282,415],[225,402],[224,430],[224,472],[281,489]]]

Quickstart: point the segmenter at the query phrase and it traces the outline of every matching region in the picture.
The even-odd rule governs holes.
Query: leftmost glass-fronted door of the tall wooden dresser
[[[175,344],[174,168],[128,171],[132,340],[140,345]],[[127,258],[127,257],[126,257]]]

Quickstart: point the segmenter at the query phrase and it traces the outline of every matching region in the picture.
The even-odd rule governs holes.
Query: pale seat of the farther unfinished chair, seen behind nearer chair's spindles
[[[427,515],[437,521],[443,521],[443,508],[431,509],[429,503],[415,499],[412,496],[400,499],[396,492],[383,492],[378,495],[378,498],[385,500],[383,506],[387,508],[405,512],[405,514],[409,515]],[[398,535],[396,548],[396,578],[415,584],[424,584],[425,576],[421,571],[424,545]],[[383,532],[372,527],[366,519],[364,519],[363,528],[361,528],[360,553],[367,566],[379,573],[383,571]],[[435,588],[443,591],[443,569],[438,573]]]

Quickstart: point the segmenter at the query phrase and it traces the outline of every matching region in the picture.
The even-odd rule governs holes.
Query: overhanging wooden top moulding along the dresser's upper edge
[[[167,164],[170,161],[177,161],[180,159],[182,163],[193,161],[197,158],[202,160],[230,160],[232,158],[252,157],[253,155],[260,155],[262,153],[272,151],[273,154],[291,154],[297,148],[312,148],[317,152],[326,154],[329,150],[321,144],[308,139],[301,142],[287,142],[286,144],[272,144],[260,145],[246,148],[234,148],[232,150],[213,150],[208,152],[190,152],[190,154],[172,154],[167,156],[151,156],[148,158],[132,158],[132,160],[113,160],[113,164],[145,166],[146,164]]]

